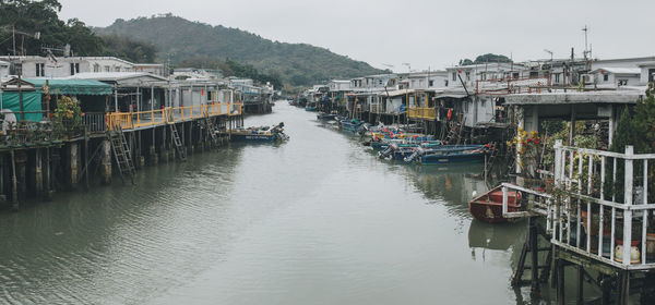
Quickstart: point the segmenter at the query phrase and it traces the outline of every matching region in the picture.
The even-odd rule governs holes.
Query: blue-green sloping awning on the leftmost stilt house
[[[34,84],[37,89],[43,91],[43,87],[48,82],[50,94],[59,95],[111,95],[111,85],[94,80],[46,80],[46,78],[26,78],[26,82]]]

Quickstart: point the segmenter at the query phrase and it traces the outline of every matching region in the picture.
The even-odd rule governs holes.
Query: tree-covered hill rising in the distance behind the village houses
[[[151,42],[157,47],[160,60],[168,56],[174,62],[229,59],[250,64],[291,85],[311,85],[331,78],[382,72],[366,62],[335,54],[324,48],[271,41],[238,28],[211,26],[170,14],[117,20],[112,25],[95,30],[100,35],[115,34]]]

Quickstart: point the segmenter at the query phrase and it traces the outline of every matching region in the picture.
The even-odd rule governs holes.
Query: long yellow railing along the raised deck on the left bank
[[[241,103],[214,102],[138,112],[110,112],[107,113],[106,122],[110,131],[118,126],[122,130],[132,130],[215,115],[240,115],[241,108]]]

